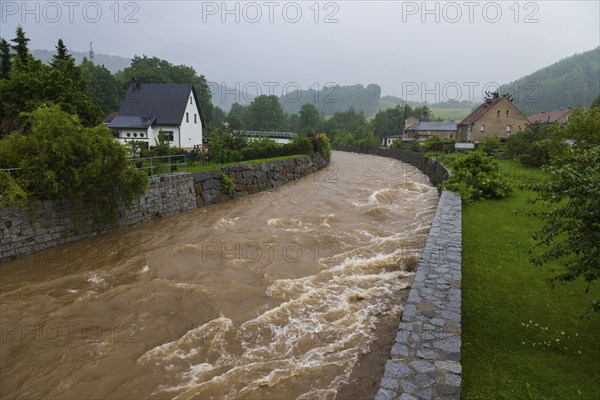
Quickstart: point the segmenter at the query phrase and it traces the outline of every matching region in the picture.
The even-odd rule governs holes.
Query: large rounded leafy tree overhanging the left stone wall
[[[86,128],[57,105],[35,109],[27,121],[28,133],[0,139],[0,168],[22,168],[2,185],[4,205],[57,199],[107,222],[144,193],[146,175],[131,167],[108,128]]]

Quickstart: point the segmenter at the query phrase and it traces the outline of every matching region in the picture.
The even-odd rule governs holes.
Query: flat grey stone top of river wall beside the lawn
[[[444,190],[376,400],[460,399],[461,209]]]

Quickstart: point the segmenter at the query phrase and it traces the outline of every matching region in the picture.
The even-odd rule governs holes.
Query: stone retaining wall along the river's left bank
[[[31,215],[16,208],[0,208],[0,262],[35,251],[74,242],[120,226],[219,203],[232,198],[279,187],[324,168],[329,161],[321,156],[295,157],[264,164],[239,164],[218,171],[176,173],[151,177],[146,194],[130,209],[118,212],[118,223],[98,227],[91,218],[79,217],[56,201],[44,201]],[[221,185],[222,175],[233,182],[231,195]]]

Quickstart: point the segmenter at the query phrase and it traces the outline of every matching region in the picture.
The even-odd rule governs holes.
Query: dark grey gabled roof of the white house
[[[200,112],[198,99],[191,83],[134,82],[127,89],[119,115],[108,126],[110,128],[143,127],[148,121],[151,121],[150,124],[157,125],[180,125],[190,92]],[[204,124],[202,114],[200,120]]]

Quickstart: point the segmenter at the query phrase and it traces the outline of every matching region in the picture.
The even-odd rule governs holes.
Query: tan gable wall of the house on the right
[[[510,101],[502,99],[473,124],[473,141],[481,141],[490,135],[506,138],[525,129],[528,123],[527,118]],[[485,125],[484,132],[481,132],[481,125]],[[508,125],[512,128],[511,132],[506,131]]]

